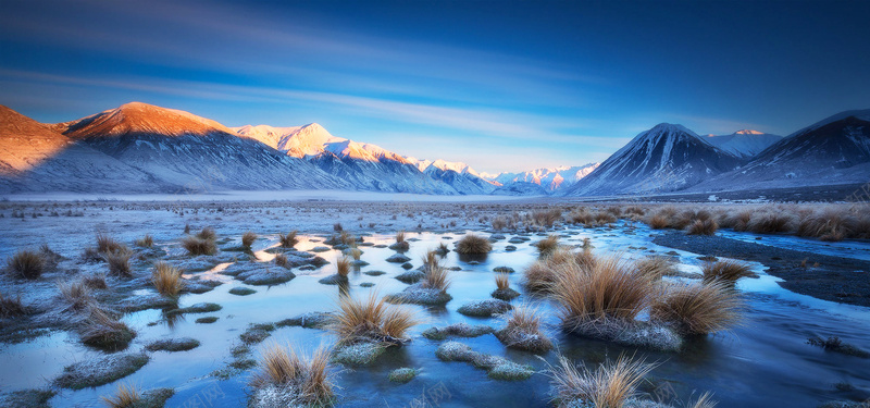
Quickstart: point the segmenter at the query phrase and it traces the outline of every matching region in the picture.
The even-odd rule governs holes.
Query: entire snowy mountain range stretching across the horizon
[[[41,124],[0,106],[0,193],[201,193],[350,189],[437,195],[612,196],[865,183],[870,110],[781,137],[699,136],[678,124],[642,132],[601,163],[478,173],[402,156],[323,126],[227,127],[132,102]]]

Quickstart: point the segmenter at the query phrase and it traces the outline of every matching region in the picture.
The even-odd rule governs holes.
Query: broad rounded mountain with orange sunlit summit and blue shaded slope
[[[351,187],[217,122],[147,103],[127,103],[54,127],[169,185],[162,193]]]

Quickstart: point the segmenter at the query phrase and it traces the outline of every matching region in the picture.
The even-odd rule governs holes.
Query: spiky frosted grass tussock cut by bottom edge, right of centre
[[[577,406],[582,401],[593,407],[624,407],[636,396],[637,386],[654,368],[655,364],[643,359],[621,355],[593,371],[587,367],[577,369],[571,360],[560,356],[559,363],[550,368],[554,399],[560,407]]]

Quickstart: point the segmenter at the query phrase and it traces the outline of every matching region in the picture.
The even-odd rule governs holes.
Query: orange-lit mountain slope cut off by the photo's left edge
[[[167,185],[0,106],[0,191],[145,193],[161,187]]]

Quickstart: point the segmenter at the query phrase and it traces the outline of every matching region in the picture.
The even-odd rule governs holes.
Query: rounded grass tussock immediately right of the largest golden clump
[[[704,335],[733,327],[742,310],[743,302],[726,282],[671,283],[652,302],[649,318],[669,323],[684,335]]]

